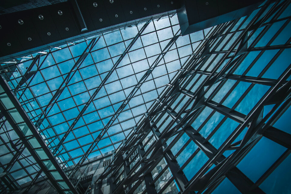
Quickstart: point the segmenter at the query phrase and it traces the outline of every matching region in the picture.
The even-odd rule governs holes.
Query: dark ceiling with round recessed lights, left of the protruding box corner
[[[72,1],[76,2],[72,4]],[[156,15],[156,18],[161,17],[163,13],[169,15],[179,5],[179,0],[115,0],[113,3],[109,0],[72,1],[20,11],[13,13],[13,17],[5,14],[3,17],[9,16],[8,21],[11,19],[17,21],[21,17],[24,24],[15,24],[15,21],[8,22],[7,26],[5,22],[0,24],[3,27],[10,27],[11,31],[2,30],[1,32],[1,38],[5,42],[9,40],[11,44],[5,49],[8,42],[1,42],[1,58],[12,53],[22,56],[24,53],[36,51],[34,48],[37,48],[37,51],[46,50],[55,46],[56,42],[65,44],[80,36],[89,37],[97,32],[124,27],[125,23],[127,26],[136,25],[149,20],[153,15]],[[59,11],[62,14],[58,14]],[[39,15],[42,15],[43,19],[39,19]],[[81,32],[81,29],[86,28],[85,25],[82,26],[84,23],[88,30]],[[15,58],[15,56],[11,55],[8,58]]]

